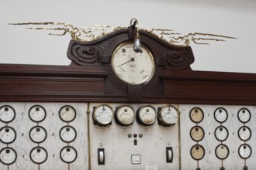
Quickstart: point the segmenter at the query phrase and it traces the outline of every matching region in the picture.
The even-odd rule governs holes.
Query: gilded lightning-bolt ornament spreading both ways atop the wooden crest
[[[131,22],[133,19],[131,20]],[[136,19],[137,21],[137,19]],[[9,23],[9,25],[16,26],[36,26],[29,27],[26,29],[44,29],[51,30],[57,33],[47,33],[51,36],[64,36],[67,33],[71,35],[71,38],[81,42],[89,42],[95,39],[99,39],[103,36],[108,35],[111,32],[115,32],[120,29],[126,29],[127,27],[122,26],[111,26],[111,25],[92,25],[89,27],[78,28],[67,24],[65,22],[23,22],[23,23]],[[37,27],[45,26],[45,27]],[[226,41],[225,39],[237,39],[232,36],[222,36],[212,33],[202,33],[202,32],[192,32],[187,34],[182,34],[180,32],[175,32],[173,29],[138,29],[145,32],[150,32],[157,36],[159,39],[168,42],[173,46],[189,46],[190,42],[195,44],[209,45],[209,41]]]

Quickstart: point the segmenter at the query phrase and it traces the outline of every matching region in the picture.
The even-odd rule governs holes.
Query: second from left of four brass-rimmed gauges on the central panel
[[[115,116],[116,120],[123,125],[132,124],[135,119],[134,110],[128,105],[118,107]]]

